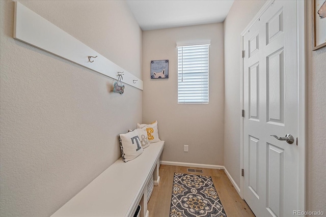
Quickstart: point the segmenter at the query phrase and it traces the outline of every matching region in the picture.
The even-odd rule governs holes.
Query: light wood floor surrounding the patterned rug
[[[212,177],[214,187],[219,194],[228,217],[255,216],[247,203],[240,198],[224,170],[161,165],[159,168],[159,185],[154,186],[152,196],[147,205],[150,217],[169,216],[174,173],[189,174],[187,168],[202,169],[203,173],[193,174],[208,175]]]

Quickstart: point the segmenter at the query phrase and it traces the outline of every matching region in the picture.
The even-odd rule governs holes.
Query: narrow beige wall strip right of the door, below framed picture
[[[326,47],[312,51],[311,4],[306,4],[307,209],[326,213]]]

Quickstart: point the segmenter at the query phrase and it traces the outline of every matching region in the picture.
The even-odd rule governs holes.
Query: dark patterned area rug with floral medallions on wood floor
[[[210,176],[174,173],[170,217],[226,216]]]

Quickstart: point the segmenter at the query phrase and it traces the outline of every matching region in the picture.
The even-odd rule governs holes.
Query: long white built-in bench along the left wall
[[[163,147],[164,141],[151,143],[132,161],[120,158],[52,216],[133,216],[138,204],[140,216],[148,216],[147,184],[153,175],[158,185]]]

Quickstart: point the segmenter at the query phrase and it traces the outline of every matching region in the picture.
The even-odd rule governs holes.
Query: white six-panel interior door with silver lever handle
[[[298,208],[296,1],[274,1],[243,36],[243,198],[256,216]],[[270,135],[294,137],[292,144]]]

